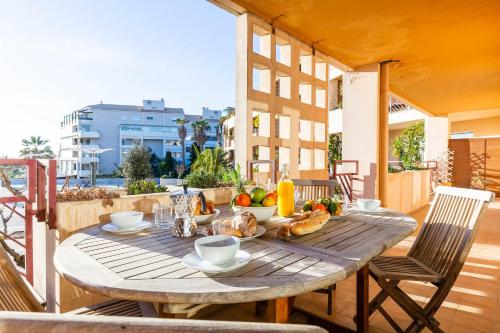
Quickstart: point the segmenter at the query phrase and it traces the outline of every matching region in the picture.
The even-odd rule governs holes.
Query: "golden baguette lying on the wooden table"
[[[282,224],[276,231],[276,237],[288,239],[292,235],[302,236],[318,231],[328,222],[330,216],[329,212],[323,210],[305,212],[291,222]]]

